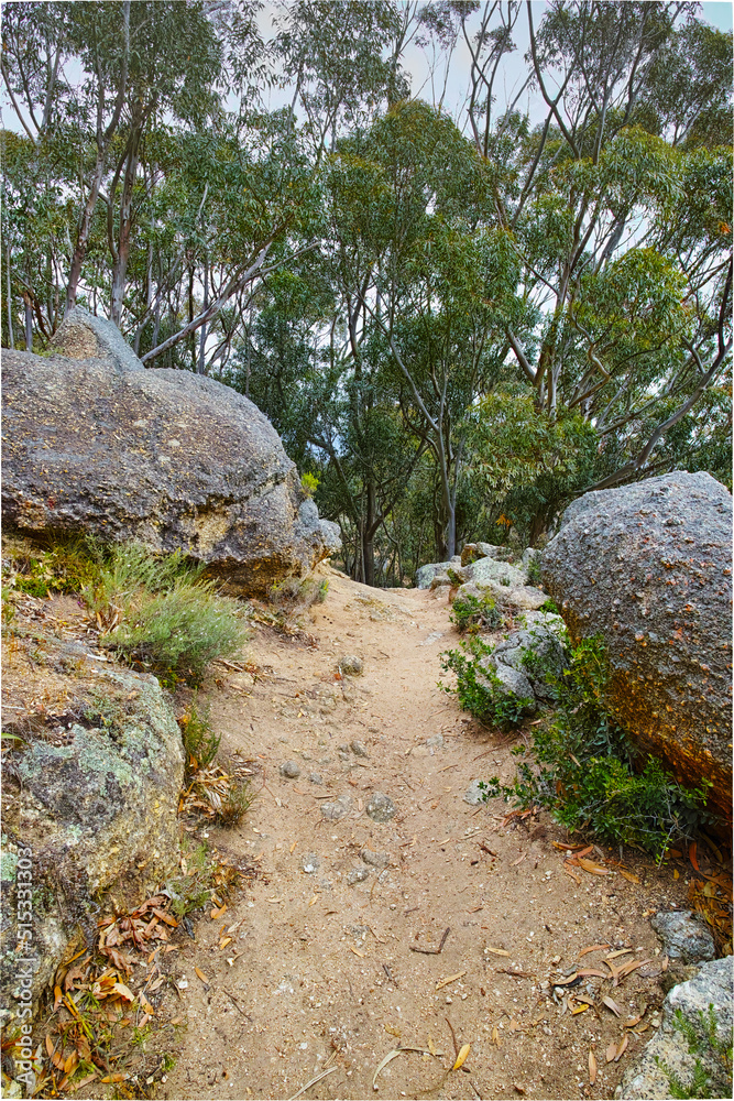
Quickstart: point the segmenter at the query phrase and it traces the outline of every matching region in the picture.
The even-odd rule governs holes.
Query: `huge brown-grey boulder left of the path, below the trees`
[[[146,371],[130,349],[125,361],[119,333],[103,345],[106,330],[75,325],[67,338],[74,355],[97,358],[2,357],[10,527],[180,548],[232,595],[264,593],[329,554],[316,505],[252,402],[187,371]]]

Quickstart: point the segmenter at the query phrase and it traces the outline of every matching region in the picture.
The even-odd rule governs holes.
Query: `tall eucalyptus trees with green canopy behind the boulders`
[[[247,393],[368,584],[590,488],[731,486],[731,34],[657,0],[272,10],[4,7],[3,347],[78,303]]]

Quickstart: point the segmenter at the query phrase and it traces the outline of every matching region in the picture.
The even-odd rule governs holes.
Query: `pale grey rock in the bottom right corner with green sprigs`
[[[724,1054],[732,1044],[732,957],[727,956],[704,963],[694,979],[672,988],[662,1003],[658,1032],[642,1058],[625,1071],[616,1097],[625,1101],[643,1098],[658,1101],[672,1097],[732,1095],[731,1069]],[[693,1045],[689,1044],[684,1027],[692,1031]],[[700,1082],[694,1093],[681,1093],[680,1088],[673,1093],[673,1076],[683,1089],[690,1089],[697,1061],[706,1078],[705,1086]],[[702,1087],[705,1092],[699,1092]]]

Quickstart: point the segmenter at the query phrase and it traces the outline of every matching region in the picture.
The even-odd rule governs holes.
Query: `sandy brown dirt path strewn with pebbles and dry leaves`
[[[187,1027],[160,1095],[292,1098],[336,1068],[306,1095],[612,1098],[650,1035],[623,1029],[625,1018],[655,1027],[664,996],[648,917],[683,903],[684,880],[628,861],[638,885],[599,850],[611,873],[580,870],[577,884],[549,819],[506,821],[499,800],[468,804],[471,781],[510,780],[514,759],[512,743],[437,688],[439,654],[457,637],[449,608],[327,573],[309,625],[318,646],[261,631],[248,657],[264,679],[234,674],[211,697],[222,753],[258,761],[264,786],[241,826],[206,832],[234,858],[259,857],[262,876],[175,956],[184,985],[174,1009]],[[335,679],[348,654],[363,674]],[[295,778],[280,772],[288,761]],[[368,815],[375,793],[395,804],[383,824]],[[349,813],[328,820],[325,805],[340,797]],[[582,977],[574,992],[587,1003],[565,1011],[551,982],[576,966],[606,972],[609,951],[580,958],[600,944],[653,962],[616,989]],[[623,1034],[626,1053],[607,1065]],[[465,1044],[463,1067],[448,1072]],[[401,1054],[373,1087],[399,1045],[441,1054]]]

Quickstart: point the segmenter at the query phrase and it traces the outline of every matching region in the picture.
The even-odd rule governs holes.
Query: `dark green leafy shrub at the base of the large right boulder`
[[[543,674],[534,655],[527,661],[534,676]],[[487,797],[502,794],[521,806],[546,807],[569,832],[588,831],[607,844],[629,844],[658,858],[710,820],[706,781],[684,788],[651,756],[635,770],[607,707],[609,663],[600,640],[583,640],[561,677],[546,673],[545,678],[557,711],[533,728],[530,760],[518,764],[514,783],[502,786],[494,777]]]

